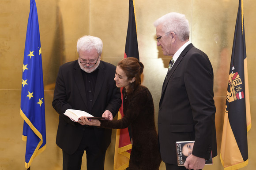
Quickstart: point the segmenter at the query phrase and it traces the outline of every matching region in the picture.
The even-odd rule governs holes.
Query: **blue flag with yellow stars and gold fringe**
[[[25,167],[29,168],[32,160],[46,147],[41,43],[35,0],[30,0],[23,59],[20,115],[24,119]]]

